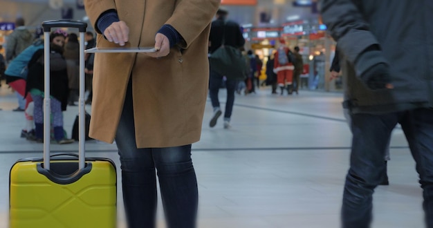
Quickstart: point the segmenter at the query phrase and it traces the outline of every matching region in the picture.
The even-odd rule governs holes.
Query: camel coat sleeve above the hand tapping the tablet
[[[114,0],[84,0],[87,17],[95,30],[98,30],[96,23],[102,13],[108,10],[117,10]]]

